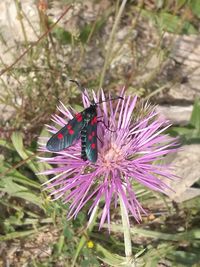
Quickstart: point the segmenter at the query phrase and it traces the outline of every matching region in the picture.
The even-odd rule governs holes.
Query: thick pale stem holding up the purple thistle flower
[[[120,208],[121,208],[122,225],[123,225],[123,231],[124,231],[125,255],[127,259],[126,266],[134,267],[135,263],[133,262],[133,255],[132,255],[130,224],[129,224],[127,210],[124,206],[124,202],[121,196],[120,196]]]

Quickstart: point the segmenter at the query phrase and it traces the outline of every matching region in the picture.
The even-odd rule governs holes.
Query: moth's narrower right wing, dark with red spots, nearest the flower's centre
[[[96,116],[86,126],[86,148],[87,159],[96,162],[98,158],[97,148],[97,118]]]

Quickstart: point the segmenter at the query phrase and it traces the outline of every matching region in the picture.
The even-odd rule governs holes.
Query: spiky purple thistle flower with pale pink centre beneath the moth
[[[87,95],[87,91],[85,92]],[[84,107],[90,106],[88,98],[83,95]],[[99,97],[101,95],[101,97]],[[176,150],[176,140],[163,132],[170,126],[168,121],[158,117],[155,108],[145,104],[138,109],[137,97],[125,97],[117,103],[104,102],[97,107],[98,116],[98,160],[96,163],[83,161],[81,142],[56,152],[53,157],[43,157],[42,161],[55,165],[43,174],[55,175],[47,183],[46,189],[54,199],[62,198],[64,203],[70,203],[68,218],[76,217],[89,200],[92,204],[88,213],[93,218],[100,201],[104,200],[100,227],[105,220],[110,224],[110,205],[115,206],[119,197],[126,209],[127,216],[131,214],[136,221],[141,220],[144,209],[138,202],[133,190],[133,182],[137,181],[149,189],[163,192],[168,188],[164,178],[173,179],[170,167],[161,165],[160,160]],[[103,91],[98,96],[93,92],[95,102],[105,100]],[[62,103],[58,110],[64,116],[52,116],[52,120],[60,127],[73,118],[72,113]],[[51,133],[57,128],[47,126]],[[45,144],[41,150],[48,152]]]

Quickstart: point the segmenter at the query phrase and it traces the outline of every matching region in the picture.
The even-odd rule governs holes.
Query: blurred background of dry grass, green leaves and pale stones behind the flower
[[[41,191],[48,178],[37,173],[50,166],[37,161],[38,137],[59,100],[82,109],[69,79],[111,95],[125,85],[173,123],[182,149],[166,160],[181,179],[169,198],[135,186],[149,215],[131,221],[133,252],[141,266],[200,266],[199,31],[198,0],[1,0],[0,266],[119,266],[124,256],[119,229],[86,232],[84,210],[67,221],[67,205]]]

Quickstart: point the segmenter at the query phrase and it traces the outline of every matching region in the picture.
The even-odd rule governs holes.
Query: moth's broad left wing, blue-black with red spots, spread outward
[[[49,139],[46,148],[49,151],[59,152],[71,146],[74,140],[79,138],[79,133],[83,126],[84,120],[82,113],[78,113],[68,124]]]

